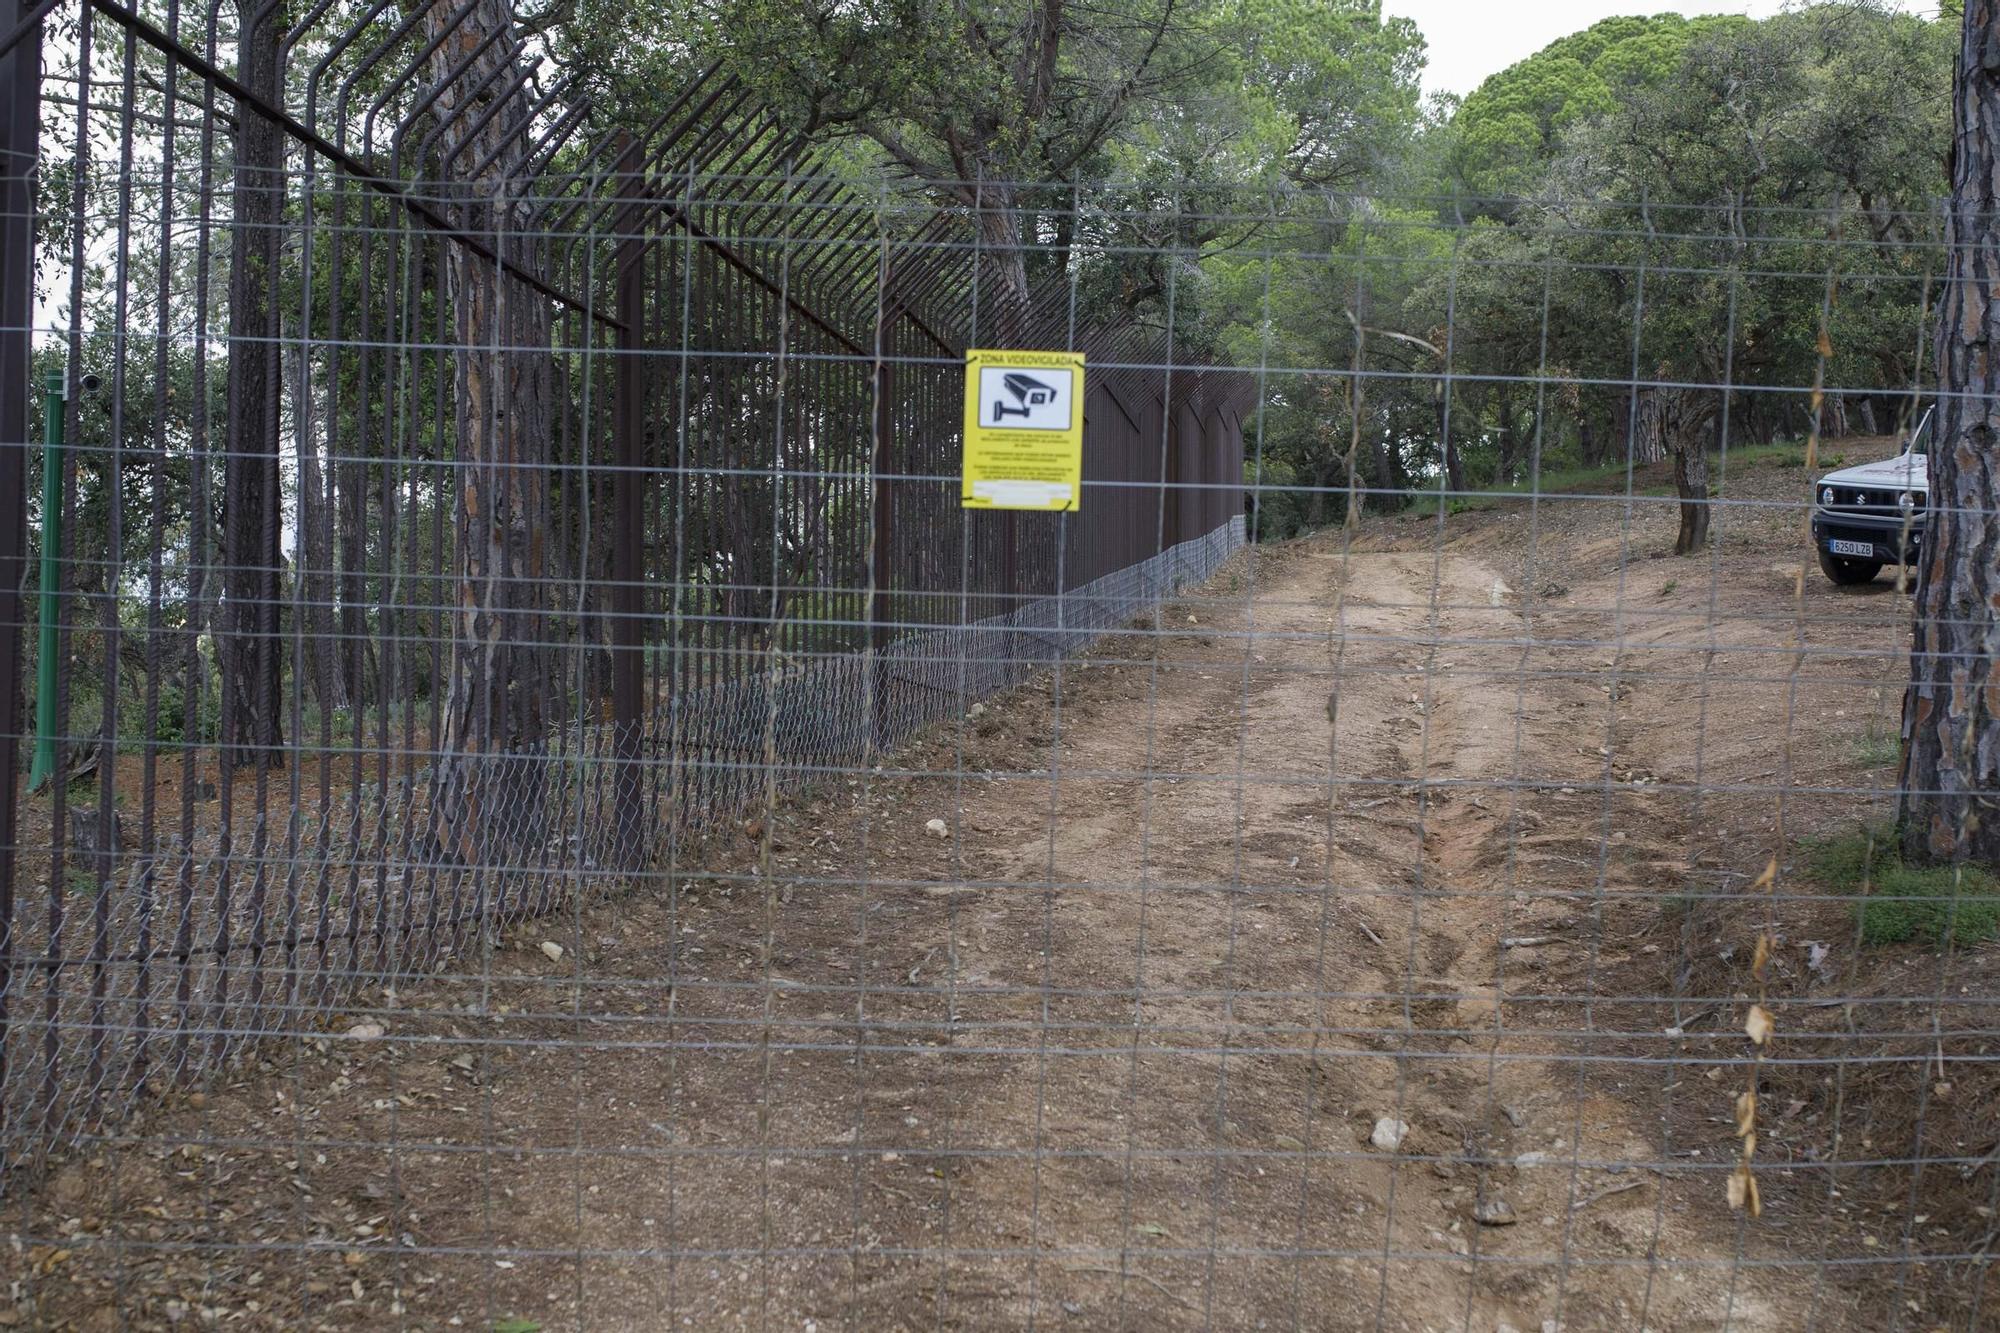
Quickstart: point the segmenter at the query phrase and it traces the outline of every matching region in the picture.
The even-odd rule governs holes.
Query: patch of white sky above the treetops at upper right
[[[1782,0],[1382,0],[1382,12],[1414,18],[1430,46],[1424,92],[1472,92],[1488,74],[1526,60],[1560,36],[1612,14],[1748,14],[1768,18]],[[1928,8],[1936,8],[1934,4]]]

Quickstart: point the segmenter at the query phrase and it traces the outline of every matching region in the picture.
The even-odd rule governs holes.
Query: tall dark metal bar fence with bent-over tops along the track
[[[1248,376],[728,76],[632,118],[498,0],[52,8],[6,52],[8,1165],[1242,542]],[[1086,352],[1078,512],[960,508],[976,346]]]

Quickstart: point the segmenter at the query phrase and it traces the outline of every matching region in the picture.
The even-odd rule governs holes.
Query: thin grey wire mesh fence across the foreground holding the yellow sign
[[[1938,214],[918,188],[284,22],[6,52],[16,1323],[1992,1321]],[[1086,354],[1074,512],[962,506],[972,348]]]

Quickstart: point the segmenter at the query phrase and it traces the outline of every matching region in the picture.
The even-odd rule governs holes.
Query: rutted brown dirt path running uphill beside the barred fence
[[[1666,1011],[1592,985],[1606,899],[1680,855],[1606,795],[1618,628],[1528,628],[1478,552],[1226,574],[1060,707],[1030,687],[670,893],[176,1097],[54,1179],[32,1309],[1802,1327],[1810,1293],[1738,1263],[1726,1125],[1664,1139],[1694,1075],[1608,1045]]]

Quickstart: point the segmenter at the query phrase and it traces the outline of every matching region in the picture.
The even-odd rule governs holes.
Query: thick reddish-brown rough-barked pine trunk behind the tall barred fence
[[[438,78],[474,50],[478,58],[438,100],[452,126],[442,176],[460,226],[484,236],[522,270],[540,266],[528,104],[508,56],[506,0],[476,0],[450,28],[454,6],[428,10],[442,46]],[[504,66],[504,68],[496,68]],[[488,114],[490,88],[516,88]],[[462,112],[462,114],[460,114]],[[464,134],[478,126],[468,140]],[[480,176],[464,176],[488,160]],[[458,598],[438,759],[438,827],[446,855],[464,863],[520,867],[546,837],[548,697],[554,683],[546,552],[550,458],[550,312],[518,278],[466,246],[444,246],[446,302],[458,342],[454,398],[458,496],[454,538]]]

